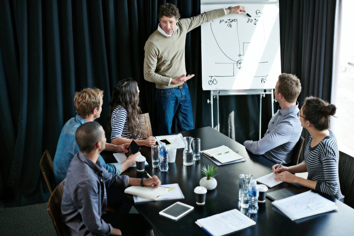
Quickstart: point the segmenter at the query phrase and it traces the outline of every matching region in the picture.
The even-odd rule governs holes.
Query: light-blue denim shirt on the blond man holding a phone
[[[55,152],[53,161],[56,184],[59,184],[65,179],[71,160],[74,155],[79,152],[79,146],[75,140],[75,133],[76,129],[84,123],[86,123],[86,120],[76,114],[76,117],[71,118],[65,123],[60,133],[57,151]],[[119,163],[106,164],[101,155],[99,155],[99,162],[109,173],[122,173],[122,165]]]

